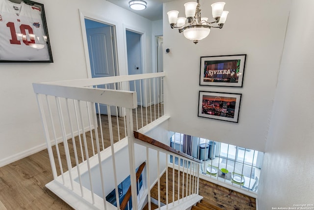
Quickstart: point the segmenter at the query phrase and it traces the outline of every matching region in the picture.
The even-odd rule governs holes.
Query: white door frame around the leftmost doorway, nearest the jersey
[[[85,54],[85,60],[86,60],[86,70],[87,70],[87,77],[90,79],[92,78],[92,72],[90,68],[90,60],[89,60],[89,51],[88,51],[88,43],[87,43],[87,36],[86,36],[86,26],[85,26],[85,19],[89,19],[92,21],[96,21],[99,23],[103,23],[105,25],[109,25],[113,27],[113,34],[114,34],[114,42],[113,42],[113,48],[115,51],[115,59],[114,59],[114,65],[115,65],[115,76],[119,75],[119,65],[118,65],[118,51],[117,51],[117,32],[116,32],[116,25],[117,23],[112,22],[110,20],[105,20],[104,18],[101,18],[99,16],[95,16],[91,13],[84,12],[81,10],[78,10],[79,12],[79,19],[80,19],[80,28],[82,32],[82,39],[83,39],[83,47],[84,47],[84,54]]]

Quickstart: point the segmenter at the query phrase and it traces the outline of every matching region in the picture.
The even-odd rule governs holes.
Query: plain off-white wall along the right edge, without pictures
[[[313,10],[313,1],[292,0],[262,166],[261,210],[314,204]]]

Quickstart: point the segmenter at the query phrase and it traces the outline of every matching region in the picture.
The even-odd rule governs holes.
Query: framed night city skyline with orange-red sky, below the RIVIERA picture
[[[238,122],[241,95],[240,93],[200,91],[198,116]]]

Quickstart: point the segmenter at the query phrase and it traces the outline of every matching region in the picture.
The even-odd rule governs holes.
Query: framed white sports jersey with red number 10
[[[53,62],[44,4],[0,0],[0,62]]]

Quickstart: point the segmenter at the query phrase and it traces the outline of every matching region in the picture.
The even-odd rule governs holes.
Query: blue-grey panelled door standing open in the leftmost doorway
[[[92,78],[115,76],[114,37],[112,26],[86,29],[87,44]],[[102,85],[97,88],[114,89],[114,85]],[[96,106],[98,113],[98,106]],[[111,115],[117,115],[116,107],[110,107]],[[100,104],[100,113],[107,114],[107,106]]]

